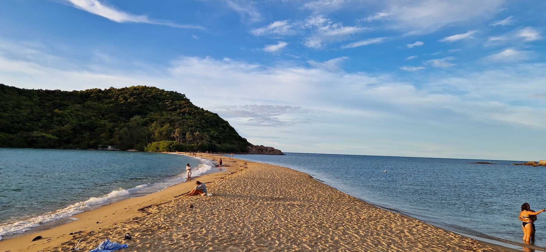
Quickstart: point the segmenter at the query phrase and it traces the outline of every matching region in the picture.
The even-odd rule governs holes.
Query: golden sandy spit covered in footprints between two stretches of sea
[[[217,160],[218,155],[203,155]],[[186,182],[75,215],[54,229],[0,241],[0,252],[514,251],[384,211],[286,167],[222,157],[228,170],[197,178],[213,196],[180,196]],[[189,207],[193,205],[193,207]],[[139,208],[150,206],[142,211]],[[98,221],[98,223],[97,223]],[[70,235],[72,233],[72,235]],[[123,241],[125,233],[133,239]],[[42,239],[32,242],[36,236]]]

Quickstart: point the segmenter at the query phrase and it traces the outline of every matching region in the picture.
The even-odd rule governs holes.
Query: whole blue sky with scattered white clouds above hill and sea
[[[546,159],[546,2],[4,0],[0,83],[185,93],[284,152]]]

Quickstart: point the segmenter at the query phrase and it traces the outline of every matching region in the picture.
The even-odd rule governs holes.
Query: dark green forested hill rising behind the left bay
[[[58,91],[0,84],[0,147],[247,152],[250,143],[186,95],[146,86]]]

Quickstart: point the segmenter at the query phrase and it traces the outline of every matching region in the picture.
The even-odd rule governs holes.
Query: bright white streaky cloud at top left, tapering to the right
[[[106,19],[109,19],[111,21],[118,22],[118,23],[126,23],[126,22],[150,23],[152,25],[164,25],[164,26],[170,26],[174,28],[202,29],[201,27],[194,26],[194,25],[179,25],[177,23],[173,23],[173,22],[165,21],[165,20],[151,20],[146,15],[129,14],[124,11],[117,10],[113,6],[108,6],[102,2],[99,2],[98,0],[63,0],[63,1],[69,3],[75,8],[78,8],[80,10],[85,10],[88,13],[106,17]]]

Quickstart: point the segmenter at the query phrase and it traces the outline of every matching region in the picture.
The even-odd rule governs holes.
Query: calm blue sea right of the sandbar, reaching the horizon
[[[546,167],[513,165],[523,161],[286,154],[234,157],[302,171],[391,211],[512,244],[523,237],[521,204],[529,202],[535,211],[546,206]],[[477,161],[496,165],[469,164]],[[535,225],[535,245],[544,248],[546,213]]]

